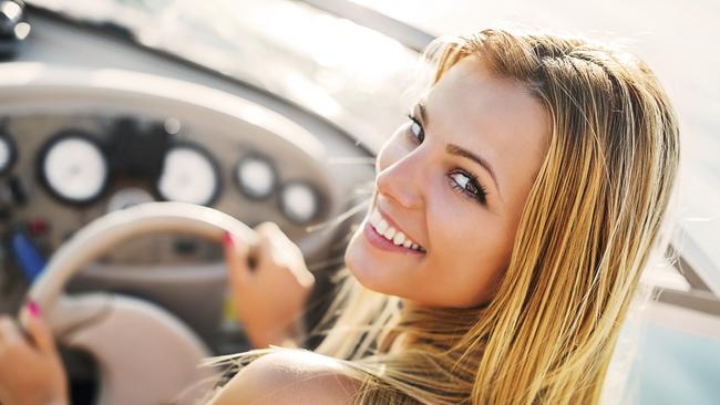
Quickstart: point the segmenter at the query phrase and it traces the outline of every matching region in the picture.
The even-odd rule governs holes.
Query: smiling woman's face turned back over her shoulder
[[[477,58],[460,61],[380,150],[370,210],[346,251],[350,271],[371,290],[422,305],[487,302],[548,133],[547,113],[524,84]]]

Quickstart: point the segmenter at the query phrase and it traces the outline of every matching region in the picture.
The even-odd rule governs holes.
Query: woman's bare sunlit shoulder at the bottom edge
[[[210,404],[351,404],[357,385],[340,370],[335,359],[282,350],[243,368]]]

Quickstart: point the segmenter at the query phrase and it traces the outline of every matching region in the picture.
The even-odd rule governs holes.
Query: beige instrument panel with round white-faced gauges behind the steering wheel
[[[176,117],[31,114],[7,117],[0,134],[0,204],[48,253],[93,218],[155,200],[212,206],[249,225],[274,220],[300,239],[305,227],[328,219],[331,196],[312,170]],[[220,258],[214,243],[167,236],[119,247],[104,261],[213,258]]]

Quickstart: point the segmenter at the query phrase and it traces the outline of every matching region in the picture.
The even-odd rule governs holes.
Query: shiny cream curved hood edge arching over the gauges
[[[321,160],[326,148],[312,134],[281,114],[244,101],[219,90],[176,79],[115,69],[54,68],[40,62],[11,62],[0,64],[0,114],[28,113],[33,106],[42,111],[58,111],[58,100],[38,103],[39,96],[56,98],[102,95],[104,100],[135,95],[165,98],[195,107],[209,108],[277,134],[305,154]],[[28,103],[30,101],[30,103]],[[24,103],[23,103],[24,102]],[[72,103],[61,103],[72,107]],[[76,110],[76,108],[72,108]]]

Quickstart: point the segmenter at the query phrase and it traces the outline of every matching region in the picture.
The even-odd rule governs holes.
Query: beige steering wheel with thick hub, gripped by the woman
[[[99,364],[97,405],[193,402],[208,390],[210,353],[163,308],[106,292],[68,295],[63,289],[105,251],[142,235],[177,231],[220,240],[224,231],[255,241],[245,224],[218,210],[184,202],[148,202],[107,214],[79,230],[50,259],[31,287],[53,335]],[[203,383],[204,381],[204,383]]]

